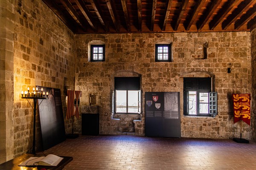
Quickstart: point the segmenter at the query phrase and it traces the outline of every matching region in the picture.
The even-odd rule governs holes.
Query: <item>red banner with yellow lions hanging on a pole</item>
[[[250,94],[232,94],[234,123],[242,120],[250,125]]]

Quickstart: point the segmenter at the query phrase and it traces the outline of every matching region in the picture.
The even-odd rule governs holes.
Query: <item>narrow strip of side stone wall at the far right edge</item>
[[[252,129],[253,139],[256,141],[256,28],[251,31],[251,48],[252,48]]]

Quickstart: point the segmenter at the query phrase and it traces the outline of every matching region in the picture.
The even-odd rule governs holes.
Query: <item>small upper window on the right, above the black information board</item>
[[[156,62],[171,62],[171,44],[156,44],[155,61]]]

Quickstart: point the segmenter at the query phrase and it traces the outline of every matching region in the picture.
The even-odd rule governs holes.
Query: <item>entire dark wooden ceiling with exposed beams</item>
[[[43,0],[77,34],[250,31],[256,0]]]

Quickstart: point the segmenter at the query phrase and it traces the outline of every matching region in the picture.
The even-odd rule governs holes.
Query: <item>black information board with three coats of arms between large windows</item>
[[[180,138],[179,92],[145,92],[145,136]]]

